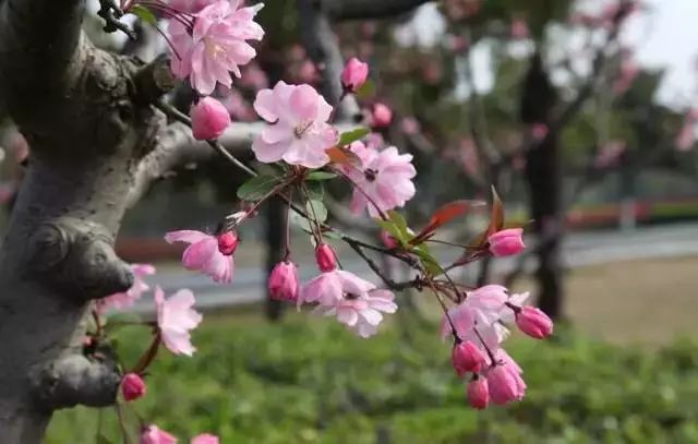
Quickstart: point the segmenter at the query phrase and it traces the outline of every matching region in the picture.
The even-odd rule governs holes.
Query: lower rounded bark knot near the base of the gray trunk
[[[121,374],[116,360],[68,355],[32,375],[38,405],[47,410],[84,405],[105,407],[117,399]]]

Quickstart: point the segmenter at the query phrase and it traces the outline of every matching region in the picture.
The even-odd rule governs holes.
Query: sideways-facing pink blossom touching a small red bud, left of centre
[[[170,231],[165,240],[186,242],[190,245],[182,254],[182,265],[191,271],[201,271],[216,283],[229,284],[232,280],[234,262],[231,255],[225,255],[218,249],[218,238],[195,230]]]

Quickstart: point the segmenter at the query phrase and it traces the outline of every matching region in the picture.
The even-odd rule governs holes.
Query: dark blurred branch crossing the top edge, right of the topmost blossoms
[[[334,21],[384,19],[404,14],[430,0],[314,0]]]

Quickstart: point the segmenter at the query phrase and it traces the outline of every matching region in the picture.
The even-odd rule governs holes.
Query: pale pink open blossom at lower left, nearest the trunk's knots
[[[191,343],[190,331],[201,323],[202,315],[192,309],[195,302],[196,299],[190,290],[179,290],[165,299],[163,289],[155,288],[157,326],[163,344],[174,355],[192,356],[196,351]]]

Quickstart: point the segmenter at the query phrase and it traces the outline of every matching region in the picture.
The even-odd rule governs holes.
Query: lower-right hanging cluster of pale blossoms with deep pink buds
[[[525,334],[541,339],[552,334],[552,321],[539,309],[524,307],[528,292],[509,296],[505,287],[488,285],[466,296],[464,302],[448,310],[448,316],[457,337],[454,368],[460,376],[473,373],[468,387],[470,404],[485,408],[490,400],[503,405],[521,399],[526,394],[524,371],[502,348],[509,335],[504,324],[516,323]],[[446,317],[441,334],[454,334]]]

